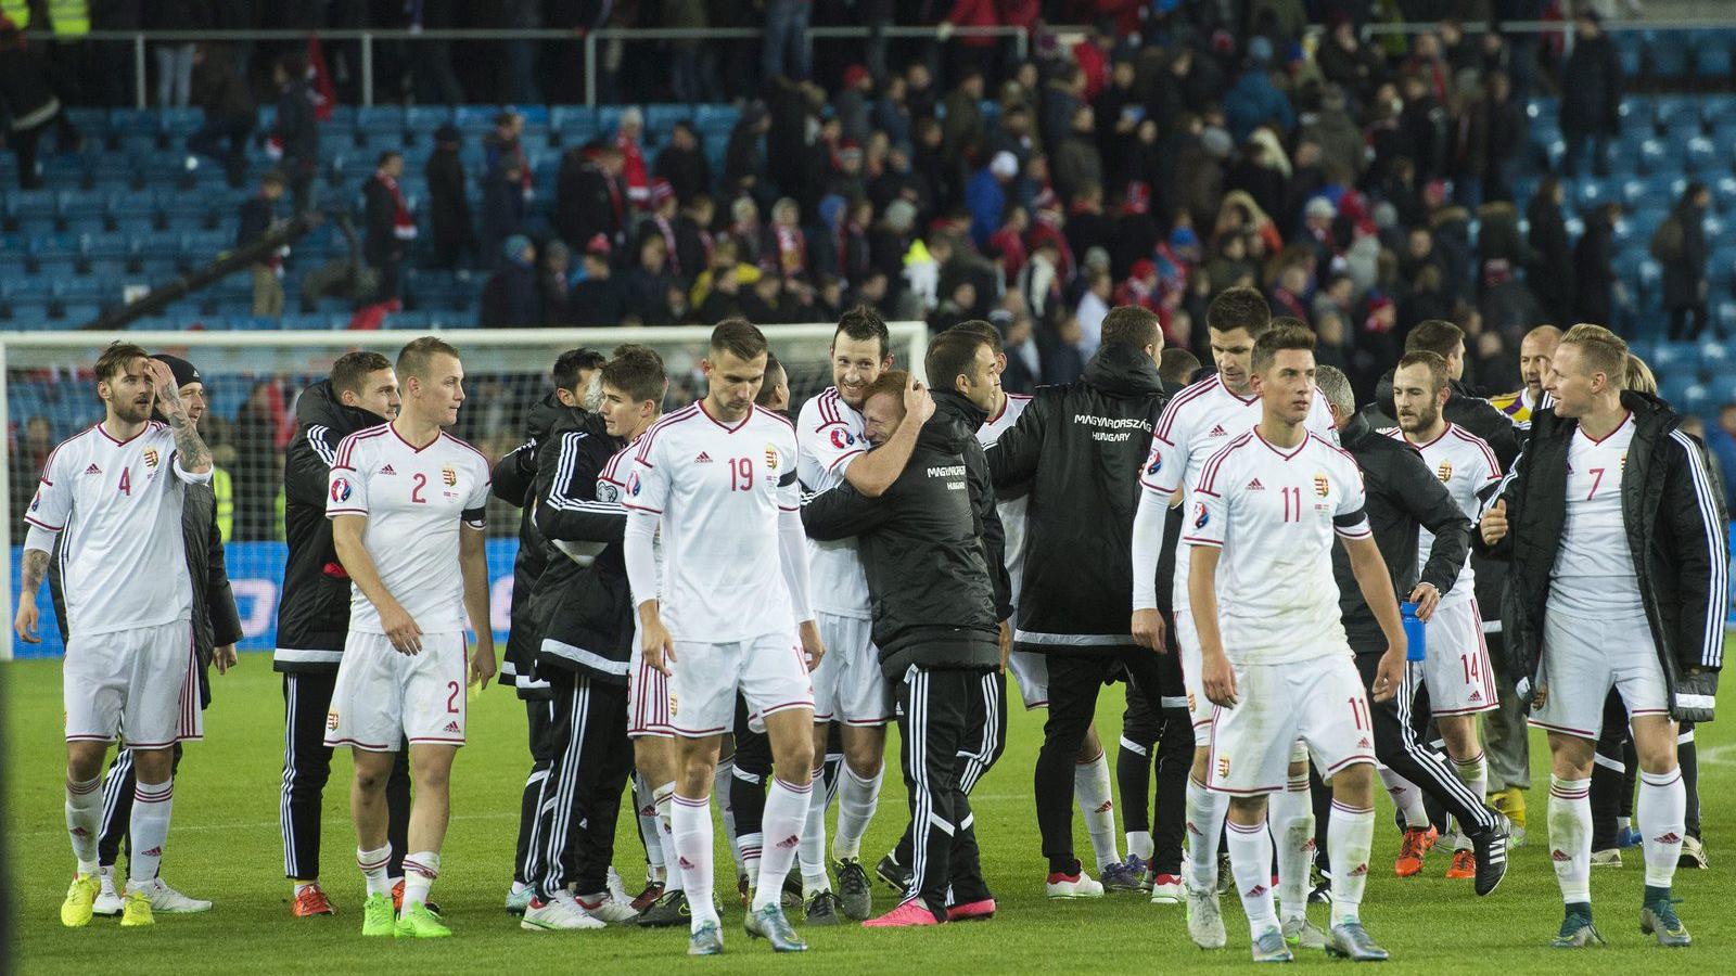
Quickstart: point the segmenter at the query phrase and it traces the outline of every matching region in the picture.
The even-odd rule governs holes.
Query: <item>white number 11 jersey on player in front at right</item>
[[[1220,547],[1217,613],[1234,663],[1351,653],[1332,575],[1335,535],[1370,537],[1363,472],[1319,434],[1278,450],[1248,431],[1212,455],[1182,545]],[[1177,559],[1179,563],[1179,559]],[[1186,577],[1177,573],[1186,584]]]

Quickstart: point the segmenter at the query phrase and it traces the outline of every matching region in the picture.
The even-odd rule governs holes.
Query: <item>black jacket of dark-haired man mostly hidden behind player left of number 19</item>
[[[524,443],[495,462],[491,491],[502,502],[523,509],[519,514],[519,554],[512,557],[512,629],[507,632],[507,653],[502,655],[500,676],[496,677],[500,684],[516,688],[519,698],[547,696],[547,683],[531,677],[542,630],[529,613],[529,601],[538,577],[549,564],[549,551],[542,533],[536,531],[536,521],[531,518],[536,500],[536,452],[549,441],[549,434],[557,425],[580,422],[587,417],[592,415],[578,406],[561,403],[561,398],[550,392],[536,406],[531,406],[524,424]]]

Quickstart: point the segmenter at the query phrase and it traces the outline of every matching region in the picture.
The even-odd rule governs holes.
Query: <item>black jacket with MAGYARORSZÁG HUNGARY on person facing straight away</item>
[[[1014,632],[1021,651],[1137,648],[1134,509],[1151,427],[1167,401],[1149,356],[1106,344],[1078,380],[1038,387],[988,452],[996,491],[1029,486]]]

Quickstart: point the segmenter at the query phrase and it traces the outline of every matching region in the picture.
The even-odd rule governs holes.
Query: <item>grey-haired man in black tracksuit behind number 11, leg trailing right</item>
[[[1417,448],[1377,432],[1368,417],[1356,412],[1351,380],[1340,370],[1321,366],[1314,382],[1332,408],[1338,445],[1351,452],[1356,465],[1363,469],[1368,524],[1375,531],[1375,547],[1392,573],[1392,592],[1410,594],[1406,599],[1415,601],[1418,617],[1427,620],[1441,597],[1453,589],[1458,570],[1465,564],[1470,552],[1470,521],[1453,504]],[[1420,573],[1417,571],[1418,528],[1434,533],[1429,563]],[[1356,585],[1351,559],[1342,547],[1333,551],[1332,575],[1338,584],[1338,611],[1344,615],[1344,634],[1356,651],[1356,669],[1363,672],[1363,683],[1373,686],[1387,639],[1375,620],[1375,611],[1363,601],[1363,590]],[[1507,832],[1495,811],[1483,806],[1483,797],[1467,788],[1439,754],[1418,740],[1411,714],[1422,688],[1420,665],[1406,665],[1404,688],[1396,696],[1385,702],[1370,698],[1375,759],[1458,818],[1477,858],[1477,894],[1488,894],[1507,874]],[[1422,714],[1427,716],[1427,698]],[[1326,823],[1325,816],[1316,816],[1321,825]],[[1325,841],[1325,830],[1321,834]],[[1321,847],[1325,849],[1325,842]]]

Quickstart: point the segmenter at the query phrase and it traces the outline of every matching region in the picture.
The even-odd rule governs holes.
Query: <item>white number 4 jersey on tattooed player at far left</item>
[[[97,424],[54,448],[24,521],[61,533],[68,632],[193,618],[182,483],[207,481],[181,467],[175,434],[156,420],[127,441]]]

